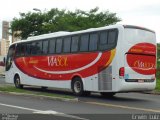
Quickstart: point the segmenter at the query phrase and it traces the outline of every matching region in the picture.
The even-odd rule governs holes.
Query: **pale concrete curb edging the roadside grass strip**
[[[0,91],[0,93],[3,94],[11,94],[11,95],[17,95],[17,96],[29,96],[29,97],[34,97],[34,98],[44,98],[44,99],[51,99],[51,100],[59,100],[59,101],[64,101],[64,102],[78,102],[78,98],[74,99],[69,99],[69,98],[61,98],[61,97],[51,97],[51,96],[45,96],[45,95],[35,95],[35,94],[28,94],[28,93],[17,93],[17,92],[3,92]]]

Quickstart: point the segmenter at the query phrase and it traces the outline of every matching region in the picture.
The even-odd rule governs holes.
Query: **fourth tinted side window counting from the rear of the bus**
[[[89,34],[81,35],[80,51],[88,51]]]

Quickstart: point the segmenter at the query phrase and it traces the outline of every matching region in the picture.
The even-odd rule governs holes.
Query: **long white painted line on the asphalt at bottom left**
[[[22,109],[22,110],[28,110],[28,111],[32,111],[33,113],[36,113],[36,114],[52,114],[52,115],[56,115],[56,116],[63,116],[63,117],[68,117],[68,118],[74,118],[74,119],[77,119],[77,120],[89,120],[89,119],[86,119],[86,118],[81,118],[81,117],[77,117],[77,116],[73,116],[73,115],[67,115],[67,114],[60,113],[60,112],[53,111],[53,110],[43,111],[43,110],[26,108],[26,107],[20,107],[20,106],[3,104],[3,103],[0,103],[0,106],[6,106],[6,107],[16,108],[16,109]]]

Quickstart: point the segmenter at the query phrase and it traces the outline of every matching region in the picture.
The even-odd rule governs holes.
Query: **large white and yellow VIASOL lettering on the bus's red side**
[[[68,66],[67,57],[48,57],[48,66]]]

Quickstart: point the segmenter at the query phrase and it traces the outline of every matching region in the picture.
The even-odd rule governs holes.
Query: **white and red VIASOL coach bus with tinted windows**
[[[6,82],[71,89],[75,94],[153,90],[156,36],[147,28],[111,25],[56,32],[13,43]]]

